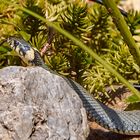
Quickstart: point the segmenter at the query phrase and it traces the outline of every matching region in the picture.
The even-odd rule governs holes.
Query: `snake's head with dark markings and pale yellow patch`
[[[10,47],[21,57],[21,59],[30,66],[36,65],[35,57],[36,51],[29,43],[23,39],[16,37],[9,37],[7,42],[10,44]]]

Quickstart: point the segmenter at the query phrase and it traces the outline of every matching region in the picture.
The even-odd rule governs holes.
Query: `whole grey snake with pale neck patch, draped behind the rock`
[[[59,75],[45,64],[39,51],[33,48],[30,43],[24,39],[9,37],[7,42],[10,48],[14,50],[27,65],[39,66],[53,74]],[[87,114],[97,124],[111,132],[125,135],[140,135],[139,110],[121,111],[109,108],[91,96],[90,93],[74,80],[66,78],[65,76],[61,77],[63,77],[68,85],[78,94]]]

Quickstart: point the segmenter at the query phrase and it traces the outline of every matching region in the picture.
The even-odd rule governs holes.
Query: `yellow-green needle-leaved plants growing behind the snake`
[[[100,98],[99,92],[103,92],[109,97],[105,87],[119,83],[118,78],[104,69],[103,65],[106,65],[106,63],[102,59],[105,59],[113,69],[118,70],[128,81],[139,80],[139,66],[129,53],[129,48],[124,45],[119,31],[116,28],[114,29],[115,25],[103,6],[98,4],[88,6],[87,3],[80,0],[75,2],[50,1],[50,3],[48,1],[42,4],[43,2],[25,0],[20,4],[20,9],[24,12],[15,10],[16,5],[13,4],[14,8],[12,10],[15,11],[13,13],[15,17],[13,19],[14,22],[10,25],[6,24],[9,20],[8,17],[3,17],[0,20],[1,23],[4,23],[1,25],[2,27],[6,25],[7,28],[10,28],[12,26],[13,30],[11,33],[2,31],[1,35],[13,35],[14,31],[14,34],[20,34],[32,46],[40,50],[49,40],[50,32],[54,32],[54,39],[48,50],[50,55],[44,55],[45,62],[52,69],[78,81],[98,98]],[[6,6],[9,7],[11,5]],[[47,20],[24,9],[23,6],[41,14]],[[54,24],[51,24],[49,21]],[[52,31],[50,31],[50,26],[53,27]],[[59,27],[67,30],[80,41]],[[133,24],[131,27],[133,27]],[[81,41],[100,55],[102,59],[95,53],[92,53],[91,49],[86,48]],[[88,53],[78,46],[87,50]],[[89,53],[102,64],[93,59]],[[15,54],[10,52],[7,44],[1,45],[0,54],[1,67],[24,64],[23,62],[21,63],[18,57],[14,57]],[[110,69],[108,65],[105,67]],[[110,69],[110,71],[113,70]]]

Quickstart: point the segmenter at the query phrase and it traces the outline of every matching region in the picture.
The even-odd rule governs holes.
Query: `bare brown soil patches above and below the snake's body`
[[[116,91],[115,93],[108,88],[109,95],[111,98],[103,98],[103,102],[113,109],[125,110],[128,107],[125,99],[131,95],[131,93],[123,86],[114,86]],[[99,126],[95,122],[90,122],[90,135],[87,140],[140,140],[140,136],[127,136],[116,134],[110,132],[103,127]]]

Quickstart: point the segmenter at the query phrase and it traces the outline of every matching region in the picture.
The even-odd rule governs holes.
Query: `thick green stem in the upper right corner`
[[[103,3],[106,6],[108,12],[111,14],[116,27],[119,29],[121,35],[124,38],[124,41],[128,45],[130,53],[133,55],[136,63],[140,66],[140,49],[136,45],[135,40],[132,37],[124,17],[121,15],[119,9],[117,8],[116,3],[114,0],[103,0]]]

